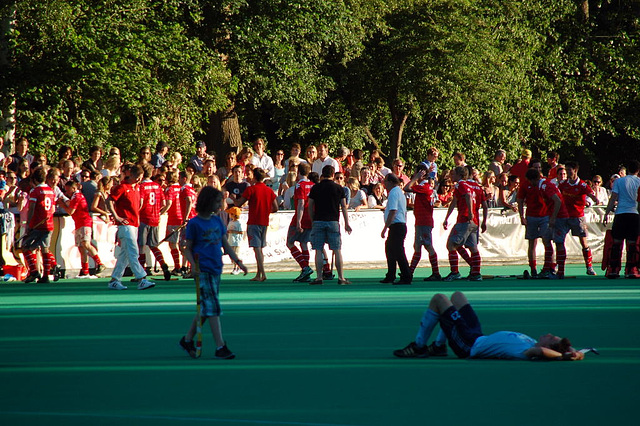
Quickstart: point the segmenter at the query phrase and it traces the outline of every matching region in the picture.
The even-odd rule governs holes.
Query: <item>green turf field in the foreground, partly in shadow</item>
[[[486,267],[516,274],[522,267]],[[417,274],[428,275],[428,270]],[[464,273],[464,272],[463,272]],[[192,280],[117,292],[106,279],[0,285],[2,425],[612,425],[637,420],[640,283],[586,277],[339,287],[225,275],[223,329],[235,360],[178,347]],[[483,330],[568,336],[582,362],[404,360],[435,292],[463,290]]]

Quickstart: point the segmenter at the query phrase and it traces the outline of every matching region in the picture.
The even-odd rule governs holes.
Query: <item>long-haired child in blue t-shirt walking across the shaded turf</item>
[[[215,357],[218,359],[233,359],[235,354],[227,348],[222,337],[220,325],[220,300],[218,290],[222,275],[222,249],[231,257],[240,269],[247,274],[247,267],[238,259],[227,241],[227,228],[222,220],[215,215],[222,206],[222,192],[211,186],[205,186],[198,195],[196,212],[198,215],[187,223],[186,249],[184,256],[194,267],[194,274],[200,276],[200,299],[202,322],[209,319],[211,333],[216,342]],[[197,262],[196,262],[197,259]],[[191,322],[187,334],[180,340],[180,346],[192,358],[196,357],[193,336],[196,333],[198,316]]]

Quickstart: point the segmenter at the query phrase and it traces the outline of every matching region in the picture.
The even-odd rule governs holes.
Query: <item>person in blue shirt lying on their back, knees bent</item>
[[[437,324],[441,332],[436,341],[427,341]],[[436,294],[429,302],[414,342],[393,354],[399,358],[427,358],[446,356],[446,341],[459,358],[498,358],[520,360],[578,361],[584,353],[571,347],[569,339],[553,334],[541,336],[539,341],[513,331],[498,331],[484,335],[480,320],[462,292],[455,292],[449,299]]]

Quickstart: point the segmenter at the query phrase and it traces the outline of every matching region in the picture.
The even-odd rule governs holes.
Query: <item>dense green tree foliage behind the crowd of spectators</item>
[[[243,137],[271,149],[379,146],[411,163],[437,146],[446,166],[454,151],[483,163],[526,146],[601,169],[621,161],[611,145],[640,155],[638,1],[20,0],[15,11],[3,110],[15,99],[18,133],[45,150],[180,149],[231,106]]]

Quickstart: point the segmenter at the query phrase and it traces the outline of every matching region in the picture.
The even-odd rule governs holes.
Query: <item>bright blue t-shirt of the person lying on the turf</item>
[[[515,331],[498,331],[480,336],[471,347],[470,358],[528,359],[524,353],[535,339]]]

